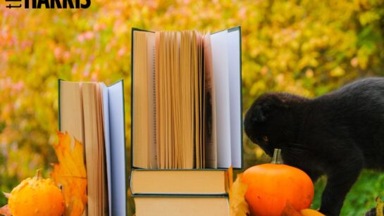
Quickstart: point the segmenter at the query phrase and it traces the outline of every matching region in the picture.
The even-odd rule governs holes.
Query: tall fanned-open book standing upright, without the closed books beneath
[[[242,167],[240,34],[132,29],[132,167]]]

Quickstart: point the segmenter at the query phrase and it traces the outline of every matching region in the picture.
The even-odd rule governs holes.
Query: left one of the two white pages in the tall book
[[[217,167],[228,168],[231,165],[228,30],[211,34],[211,46],[216,99]]]

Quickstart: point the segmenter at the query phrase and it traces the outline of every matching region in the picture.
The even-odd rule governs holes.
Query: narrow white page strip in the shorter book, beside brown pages
[[[106,154],[106,181],[108,188],[108,205],[109,215],[111,215],[111,146],[109,136],[109,96],[108,88],[104,83],[100,83],[101,90],[103,91],[103,115],[104,115],[104,140],[105,140],[105,154]]]

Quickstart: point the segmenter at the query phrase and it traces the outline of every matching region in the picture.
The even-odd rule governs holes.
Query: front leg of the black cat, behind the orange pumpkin
[[[320,212],[327,216],[340,215],[340,210],[344,202],[345,196],[351,189],[354,182],[361,172],[364,159],[359,151],[352,151],[349,154],[340,155],[340,161],[330,160],[327,170],[328,176],[326,189],[321,197]]]

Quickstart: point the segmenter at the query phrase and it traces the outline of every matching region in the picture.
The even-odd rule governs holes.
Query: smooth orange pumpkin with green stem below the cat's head
[[[295,167],[281,164],[280,149],[275,149],[272,163],[245,170],[248,184],[245,200],[251,215],[281,215],[286,203],[296,210],[309,208],[314,198],[314,184],[309,176]]]

